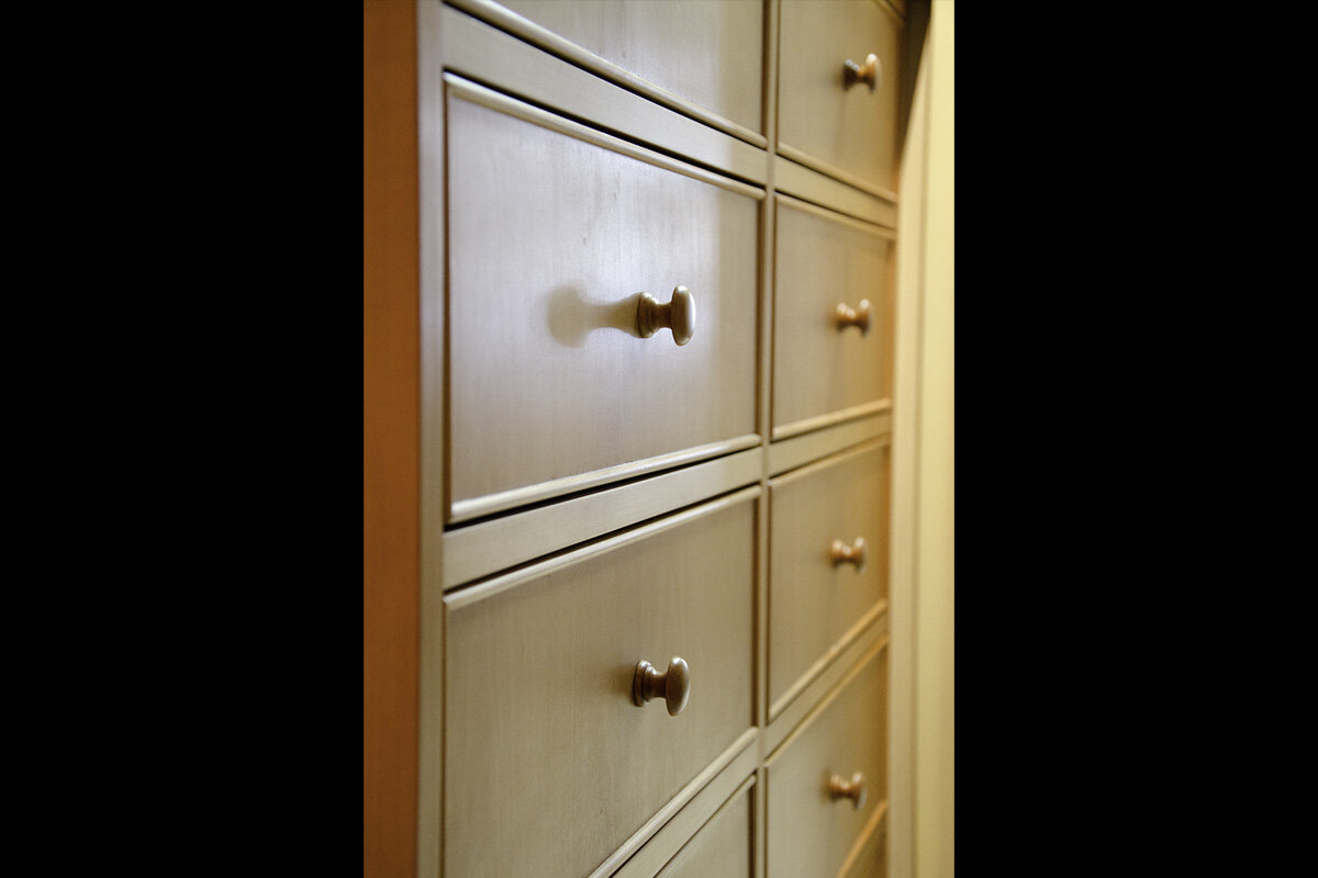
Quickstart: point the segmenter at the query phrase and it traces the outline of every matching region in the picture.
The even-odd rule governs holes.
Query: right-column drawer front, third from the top
[[[768,703],[775,716],[784,695],[887,598],[887,465],[888,446],[871,445],[770,482]]]

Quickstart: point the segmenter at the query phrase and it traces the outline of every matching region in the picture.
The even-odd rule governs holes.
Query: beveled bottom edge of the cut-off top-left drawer
[[[532,46],[543,49],[551,55],[556,55],[563,61],[571,62],[579,67],[583,67],[606,80],[613,82],[627,91],[635,92],[642,97],[647,97],[656,104],[689,116],[699,122],[704,122],[712,128],[717,128],[725,134],[730,134],[741,141],[750,143],[751,146],[758,146],[759,149],[766,149],[768,146],[768,138],[759,132],[754,132],[745,125],[734,122],[730,118],[725,118],[718,113],[701,107],[693,101],[675,95],[667,88],[662,88],[651,83],[648,79],[642,79],[633,72],[617,66],[612,61],[605,61],[593,51],[584,49],[571,39],[561,37],[552,30],[535,24],[530,18],[526,18],[511,9],[493,3],[493,0],[443,0],[445,5],[451,5],[456,9],[471,14],[474,18],[498,28],[519,39],[523,39]],[[768,26],[768,22],[764,22]],[[760,83],[760,91],[763,92],[763,83]],[[764,100],[763,93],[760,95],[760,107],[763,108]],[[760,111],[760,122],[763,124],[763,109]]]

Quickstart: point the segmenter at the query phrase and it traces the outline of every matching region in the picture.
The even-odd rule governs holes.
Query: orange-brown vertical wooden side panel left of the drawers
[[[362,874],[416,870],[416,9],[362,4]]]

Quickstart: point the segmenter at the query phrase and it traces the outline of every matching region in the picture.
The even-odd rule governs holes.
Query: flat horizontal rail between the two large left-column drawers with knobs
[[[443,536],[443,587],[460,586],[757,482],[763,455],[763,449],[757,446],[641,482],[447,530]]]

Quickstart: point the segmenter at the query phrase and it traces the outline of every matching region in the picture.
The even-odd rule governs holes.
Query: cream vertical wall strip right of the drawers
[[[954,0],[933,0],[911,113],[894,390],[890,874],[956,870]]]

